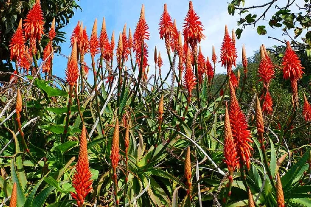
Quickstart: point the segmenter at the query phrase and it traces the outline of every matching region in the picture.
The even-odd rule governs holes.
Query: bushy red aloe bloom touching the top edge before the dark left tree
[[[28,11],[24,22],[23,26],[26,39],[29,39],[31,36],[34,36],[38,40],[41,39],[41,36],[44,34],[44,19],[40,0],[36,0],[34,6]]]

